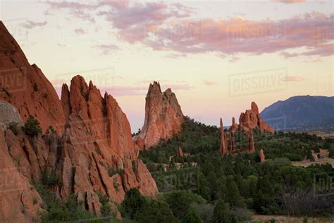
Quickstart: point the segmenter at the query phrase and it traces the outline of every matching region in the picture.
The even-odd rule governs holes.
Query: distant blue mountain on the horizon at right
[[[266,107],[260,116],[276,130],[334,125],[334,97],[295,96]]]

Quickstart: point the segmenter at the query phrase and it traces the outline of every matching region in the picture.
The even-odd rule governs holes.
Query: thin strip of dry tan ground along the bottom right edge
[[[282,215],[253,215],[253,222],[271,222],[271,219],[275,219],[275,223],[278,222],[293,222],[299,223],[304,222],[305,217],[289,217],[289,216],[282,216]],[[321,218],[321,217],[307,217],[307,222],[334,222],[334,218]]]

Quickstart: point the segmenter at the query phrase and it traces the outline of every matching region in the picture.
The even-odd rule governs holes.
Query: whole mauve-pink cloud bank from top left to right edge
[[[286,4],[304,0],[273,0]],[[282,52],[293,56],[333,55],[334,14],[305,13],[292,18],[247,20],[247,18],[198,19],[193,8],[183,4],[138,1],[50,2],[55,10],[68,10],[75,18],[89,20],[92,15],[116,28],[120,40],[142,43],[157,51],[170,51],[170,58],[185,54],[259,55]],[[288,49],[303,49],[299,54]]]

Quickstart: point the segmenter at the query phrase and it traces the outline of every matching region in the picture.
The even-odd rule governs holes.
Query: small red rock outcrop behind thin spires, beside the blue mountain
[[[255,102],[252,102],[252,109],[246,110],[245,113],[242,112],[239,118],[239,129],[243,129],[244,131],[249,131],[249,129],[259,128],[261,132],[269,132],[273,133],[274,129],[260,117],[259,107],[257,107]],[[238,128],[235,126],[235,122],[230,127],[230,131],[234,133]]]

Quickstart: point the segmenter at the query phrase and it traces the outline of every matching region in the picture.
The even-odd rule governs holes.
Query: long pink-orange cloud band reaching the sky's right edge
[[[183,20],[144,37],[141,42],[155,50],[182,53],[263,54],[307,47],[304,53],[333,54],[333,15],[308,13],[285,20]],[[126,40],[126,38],[125,38]],[[292,56],[283,53],[283,56]]]

